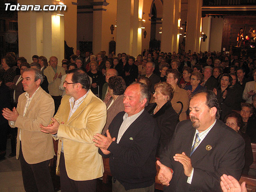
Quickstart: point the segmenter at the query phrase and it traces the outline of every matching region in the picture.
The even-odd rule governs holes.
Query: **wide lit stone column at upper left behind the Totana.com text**
[[[32,0],[18,0],[20,4],[34,4]],[[38,3],[37,3],[38,4]],[[43,0],[41,6],[51,5]],[[58,63],[64,59],[64,16],[52,11],[18,11],[19,56],[32,62],[32,56],[56,56]]]

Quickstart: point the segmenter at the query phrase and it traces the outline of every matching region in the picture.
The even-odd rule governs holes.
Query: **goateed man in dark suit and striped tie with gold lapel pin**
[[[167,186],[165,192],[219,192],[222,174],[240,178],[244,140],[218,120],[220,105],[212,91],[194,94],[189,109],[191,121],[177,125],[170,144],[160,154],[158,179]]]

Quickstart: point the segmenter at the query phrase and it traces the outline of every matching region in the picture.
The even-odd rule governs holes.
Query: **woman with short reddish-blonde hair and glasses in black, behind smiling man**
[[[155,103],[149,104],[146,110],[156,119],[161,130],[158,145],[158,154],[172,139],[175,127],[179,122],[178,115],[172,108],[171,100],[174,94],[173,87],[166,82],[159,82],[154,86]]]

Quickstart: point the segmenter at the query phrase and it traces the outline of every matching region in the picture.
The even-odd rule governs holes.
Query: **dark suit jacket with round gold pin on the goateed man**
[[[190,156],[195,131],[191,120],[178,123],[170,144],[160,155],[160,162],[174,171],[170,186],[164,188],[165,192],[220,192],[222,174],[240,179],[244,167],[244,139],[222,121],[216,120]],[[211,146],[211,149],[207,150],[207,146]],[[188,177],[184,174],[182,164],[173,159],[175,154],[182,152],[190,156],[194,168],[191,184],[187,183]]]

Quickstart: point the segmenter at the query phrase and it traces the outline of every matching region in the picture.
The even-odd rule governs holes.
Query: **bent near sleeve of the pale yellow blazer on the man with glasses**
[[[75,142],[93,143],[93,136],[101,133],[106,123],[106,105],[102,101],[93,102],[86,106],[82,113],[79,118],[72,121],[73,123],[60,124],[58,137]]]

